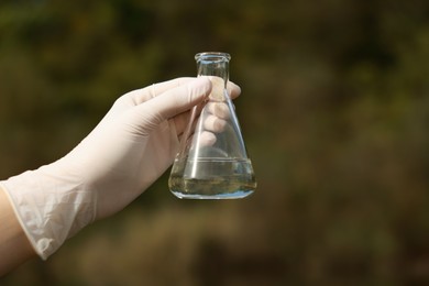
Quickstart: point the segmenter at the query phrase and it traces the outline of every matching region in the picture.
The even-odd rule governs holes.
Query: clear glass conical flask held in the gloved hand
[[[198,76],[208,77],[212,90],[191,110],[168,180],[178,198],[244,198],[256,188],[234,106],[227,90],[229,62],[226,53],[199,53]]]

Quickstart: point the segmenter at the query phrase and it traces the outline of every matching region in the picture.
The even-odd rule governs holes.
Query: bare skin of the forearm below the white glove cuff
[[[0,186],[0,276],[35,255]]]

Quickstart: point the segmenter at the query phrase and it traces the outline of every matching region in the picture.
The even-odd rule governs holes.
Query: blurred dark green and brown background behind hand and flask
[[[167,173],[1,285],[429,283],[426,0],[2,0],[0,177],[205,51],[232,55],[257,191],[179,200]]]

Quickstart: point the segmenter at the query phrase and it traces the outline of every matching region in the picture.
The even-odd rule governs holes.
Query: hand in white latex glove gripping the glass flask
[[[88,223],[118,212],[173,163],[208,78],[178,78],[119,98],[65,157],[1,182],[31,244],[47,258]],[[231,98],[240,88],[229,82]]]

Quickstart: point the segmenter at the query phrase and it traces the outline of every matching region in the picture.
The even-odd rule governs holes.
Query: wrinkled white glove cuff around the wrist
[[[95,219],[95,201],[78,176],[56,163],[0,182],[16,218],[42,260]]]

